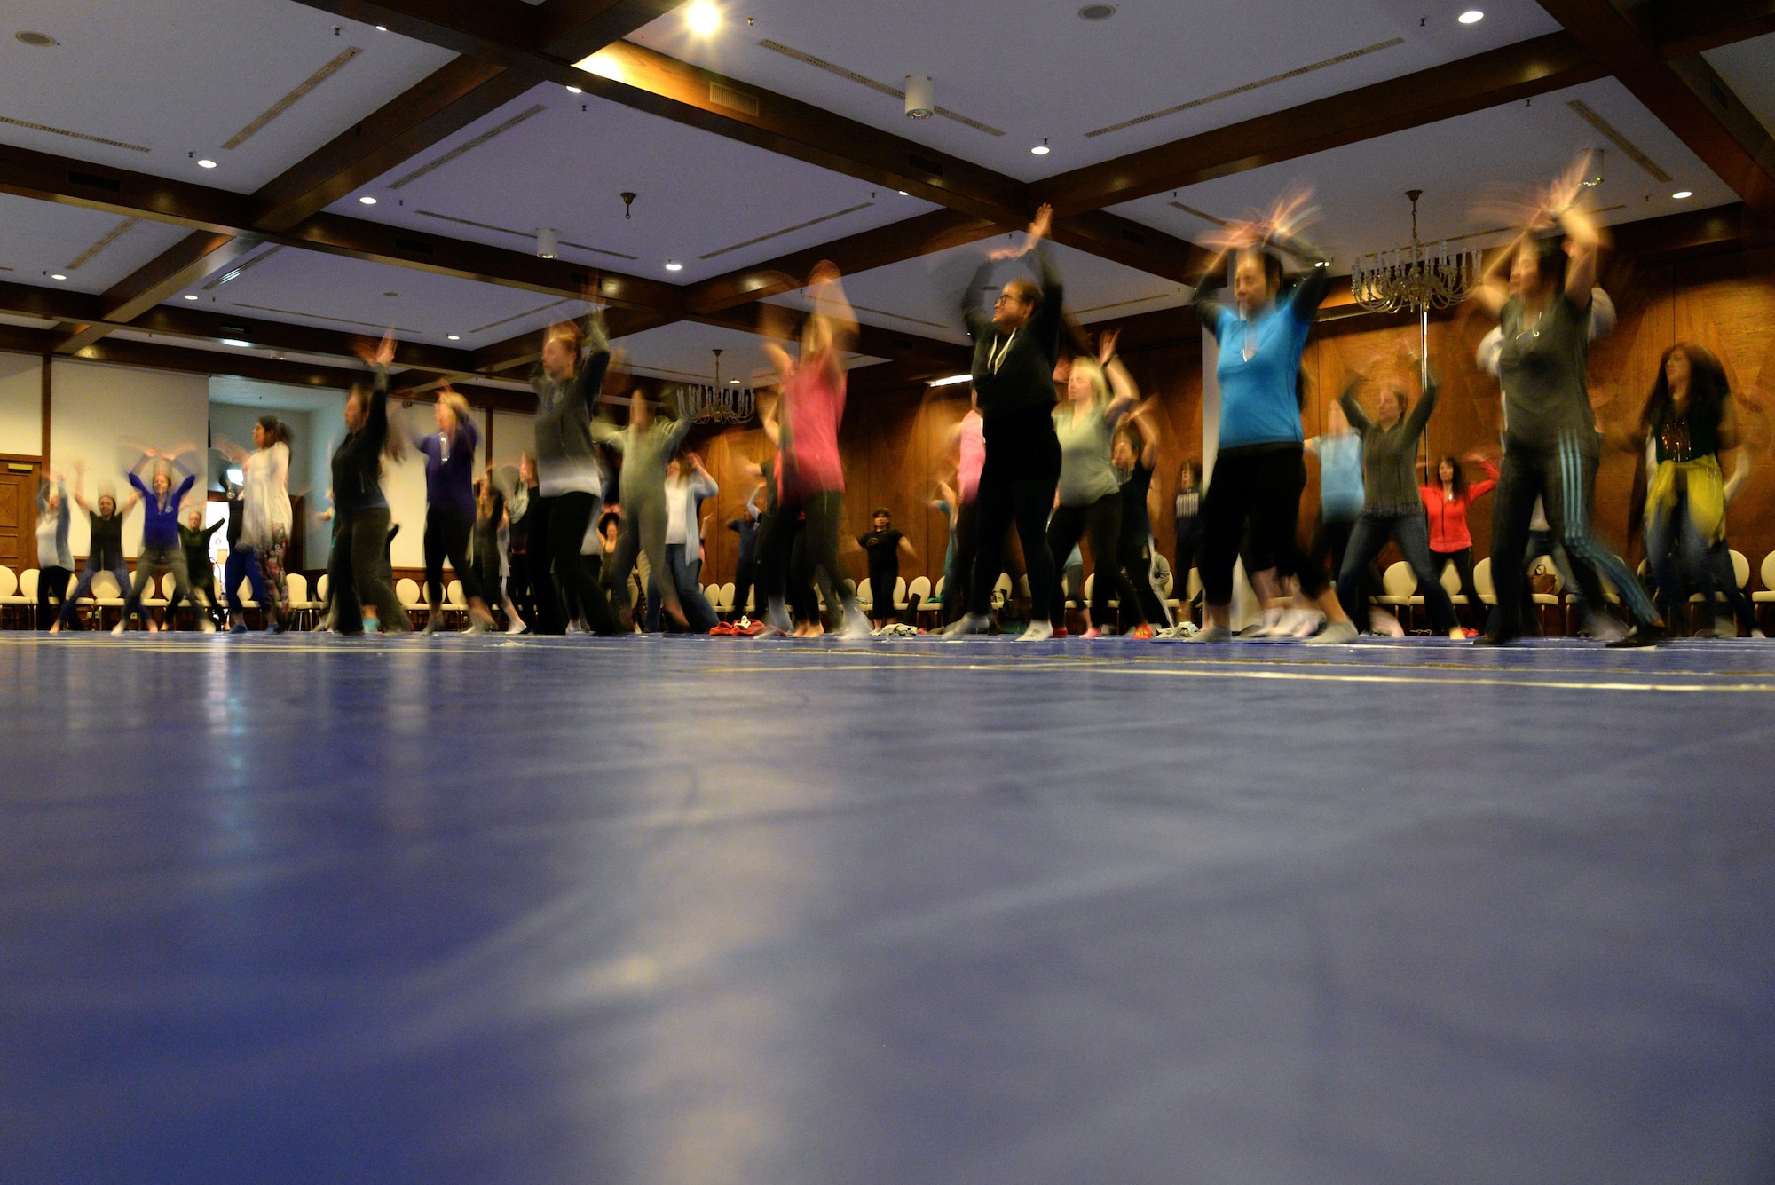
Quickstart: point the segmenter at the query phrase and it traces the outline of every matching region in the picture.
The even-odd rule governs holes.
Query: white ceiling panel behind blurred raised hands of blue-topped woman
[[[1578,101],[1626,137],[1653,167],[1605,138],[1571,103]],[[1724,181],[1613,78],[1512,103],[1440,124],[1397,131],[1347,147],[1113,206],[1150,227],[1196,239],[1212,225],[1173,206],[1180,202],[1218,218],[1239,218],[1303,186],[1321,206],[1321,222],[1306,236],[1333,254],[1338,270],[1358,254],[1400,247],[1411,238],[1406,190],[1424,190],[1418,208],[1422,238],[1470,236],[1498,227],[1475,211],[1489,195],[1526,192],[1558,174],[1583,149],[1603,149],[1605,179],[1592,200],[1610,224],[1637,222],[1683,209],[1738,200]],[[1677,190],[1693,197],[1676,200]],[[1475,236],[1489,245],[1498,236]]]

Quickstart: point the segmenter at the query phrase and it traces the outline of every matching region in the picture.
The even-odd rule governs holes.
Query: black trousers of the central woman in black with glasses
[[[1022,562],[1030,573],[1030,619],[1053,621],[1054,555],[1047,550],[1047,514],[1054,507],[1054,490],[1060,486],[1060,438],[1030,442],[1033,456],[994,465],[992,445],[987,445],[987,463],[980,472],[980,491],[974,495],[974,582],[967,591],[967,612],[983,614],[992,607],[992,585],[1005,564],[1005,539],[1015,523],[1022,541]],[[1069,546],[1070,550],[1070,546]],[[1065,552],[1061,552],[1061,557]],[[1065,601],[1061,601],[1065,607]]]

